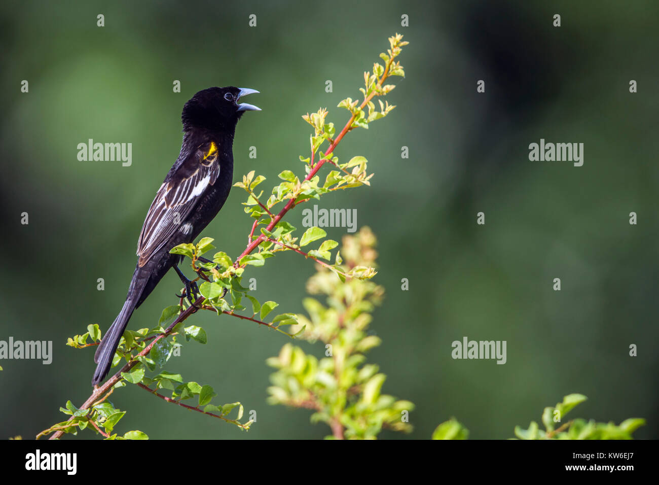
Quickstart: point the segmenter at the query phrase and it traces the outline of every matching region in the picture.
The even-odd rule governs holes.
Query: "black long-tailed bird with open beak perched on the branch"
[[[94,354],[98,364],[92,385],[105,379],[130,315],[146,300],[170,268],[185,283],[185,296],[196,298],[196,284],[183,275],[181,255],[169,250],[189,243],[213,220],[227,200],[233,181],[233,135],[245,111],[260,111],[241,103],[254,89],[204,89],[183,107],[183,144],[174,166],[158,189],[137,243],[138,261],[126,302]]]

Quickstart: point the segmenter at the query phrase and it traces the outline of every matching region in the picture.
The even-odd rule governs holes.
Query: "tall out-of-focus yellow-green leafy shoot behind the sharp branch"
[[[375,265],[376,239],[368,228],[343,238],[346,267]],[[306,354],[299,346],[285,344],[268,359],[277,369],[268,388],[271,404],[313,409],[312,422],[324,422],[334,438],[373,439],[383,428],[411,431],[409,412],[414,404],[383,394],[386,379],[375,364],[366,364],[365,352],[380,344],[368,334],[370,313],[384,290],[368,279],[341,281],[331,269],[320,266],[307,283],[311,294],[322,294],[328,306],[314,298],[304,300],[308,316],[298,315],[299,339],[320,340],[323,358]]]

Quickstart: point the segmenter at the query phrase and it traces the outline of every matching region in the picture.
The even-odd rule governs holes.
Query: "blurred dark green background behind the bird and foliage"
[[[387,374],[384,392],[416,404],[413,434],[381,436],[428,438],[456,416],[473,438],[507,438],[579,392],[589,400],[575,417],[645,417],[636,436],[657,437],[659,6],[530,4],[3,2],[0,339],[53,340],[54,356],[49,366],[0,362],[0,437],[34,437],[63,419],[67,399],[79,405],[88,397],[94,351],[65,342],[89,323],[107,329],[123,304],[144,215],[179,152],[185,101],[209,86],[260,90],[248,102],[263,111],[247,113],[237,128],[234,178],[256,170],[268,177],[265,187],[285,168],[303,173],[303,113],[328,107],[328,119],[343,126],[347,112],[335,106],[357,98],[362,72],[395,32],[410,42],[401,56],[407,78],[395,79],[387,97],[397,108],[335,152],[366,156],[372,187],[321,203],[357,209],[358,226],[379,238],[376,281],[387,296],[372,330],[384,343],[368,360]],[[174,80],[181,93],[172,92]],[[76,145],[90,138],[132,143],[132,166],[79,162]],[[584,143],[584,165],[530,162],[529,143],[540,138]],[[252,145],[256,159],[248,158]],[[243,201],[234,189],[203,232],[233,257],[251,226]],[[20,224],[24,211],[28,226]],[[485,226],[476,225],[480,211]],[[301,210],[288,220],[301,228]],[[313,271],[283,254],[247,276],[257,278],[259,300],[302,311]],[[552,290],[556,277],[560,292]],[[167,275],[130,327],[155,325],[179,286]],[[208,344],[186,344],[167,370],[213,385],[223,403],[256,410],[252,430],[133,386],[111,397],[129,410],[118,430],[152,438],[329,434],[309,423],[310,411],[266,404],[272,370],[264,361],[287,337],[210,313],[192,321]],[[507,364],[452,360],[451,342],[465,336],[507,340]],[[637,357],[629,344],[638,345]]]

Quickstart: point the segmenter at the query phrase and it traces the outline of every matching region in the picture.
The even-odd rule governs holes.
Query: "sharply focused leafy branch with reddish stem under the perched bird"
[[[395,108],[388,103],[383,104],[380,102],[380,111],[376,111],[372,99],[375,96],[386,96],[393,90],[393,84],[384,84],[389,77],[405,75],[403,67],[395,60],[401,53],[402,47],[407,45],[407,42],[403,42],[402,38],[403,36],[399,34],[389,38],[390,48],[387,49],[387,53],[380,54],[384,66],[374,63],[372,73],[364,73],[364,88],[360,88],[364,96],[362,102],[358,104],[357,101],[353,102],[351,98],[346,98],[339,103],[338,107],[349,110],[351,116],[338,135],[335,136],[333,123],[326,123],[327,110],[321,108],[317,113],[303,116],[303,119],[314,127],[314,134],[310,137],[310,156],[308,158],[300,157],[301,161],[305,163],[306,172],[306,176],[302,180],[291,170],[284,170],[279,174],[279,178],[283,181],[273,187],[272,194],[266,202],[261,200],[262,192],[257,194],[255,191],[256,187],[266,179],[264,176],[254,177],[252,171],[243,177],[242,182],[235,184],[236,187],[241,187],[248,193],[248,199],[244,203],[245,212],[254,218],[247,238],[248,244],[239,257],[234,260],[227,253],[220,251],[215,253],[212,261],[204,259],[202,255],[210,249],[214,249],[212,238],[202,238],[196,245],[186,243],[171,249],[171,253],[184,255],[191,260],[192,269],[199,275],[194,281],[203,280],[199,285],[200,298],[190,306],[186,306],[185,300],[181,298],[179,304],[163,309],[158,326],[152,329],[126,330],[112,363],[113,366],[117,366],[121,360],[125,360],[126,364],[103,385],[94,388],[92,395],[80,408],[75,408],[69,401],[67,408],[61,408],[62,412],[69,414],[69,419],[44,430],[38,437],[52,434],[51,439],[58,439],[65,433],[76,434],[78,430],[90,427],[106,439],[120,439],[116,434],[110,434],[110,432],[124,416],[125,411],[115,408],[107,397],[115,389],[123,387],[127,383],[136,384],[168,403],[178,404],[190,410],[203,412],[215,418],[231,422],[242,430],[249,428],[251,421],[246,423],[239,421],[243,416],[241,403],[230,403],[222,406],[211,404],[210,401],[216,393],[209,385],[199,385],[194,381],[186,382],[181,375],[165,371],[154,377],[146,377],[146,370],[154,372],[156,368],[162,368],[167,364],[173,353],[181,346],[179,337],[182,335],[185,335],[186,340],[193,339],[200,343],[206,343],[204,329],[195,325],[183,327],[183,322],[190,315],[196,313],[198,309],[215,311],[218,315],[225,313],[239,319],[265,325],[291,338],[295,338],[304,331],[304,326],[295,333],[288,333],[279,328],[283,325],[297,325],[297,315],[293,313],[281,313],[273,317],[272,321],[267,322],[266,316],[278,304],[272,301],[263,304],[258,302],[254,296],[249,294],[250,289],[244,288],[241,284],[243,273],[248,265],[253,267],[263,266],[266,259],[273,257],[275,253],[281,250],[293,250],[304,255],[305,258],[320,263],[325,269],[337,275],[341,282],[346,282],[347,279],[368,279],[376,274],[372,267],[356,265],[349,269],[343,268],[338,252],[334,265],[320,261],[320,259],[329,261],[331,249],[338,245],[337,242],[332,240],[323,241],[318,249],[312,249],[308,252],[301,251],[300,247],[325,238],[326,233],[320,228],[309,228],[302,234],[298,243],[298,238],[294,236],[296,228],[283,221],[282,218],[293,207],[309,199],[319,199],[321,195],[331,191],[370,185],[369,180],[372,178],[372,174],[369,175],[366,172],[366,158],[357,156],[351,158],[349,162],[339,164],[339,160],[333,155],[333,151],[349,131],[357,127],[368,128],[368,123],[385,117]],[[368,115],[364,113],[364,108],[368,108]],[[328,147],[324,152],[319,152],[321,146],[325,143],[328,144]],[[314,161],[316,160],[316,154],[318,154],[317,162]],[[324,183],[320,185],[318,172],[325,163],[339,168],[341,172],[338,170],[331,171],[326,176]],[[280,204],[283,207],[275,215],[273,209]],[[254,237],[256,229],[260,225],[264,227],[261,227],[260,234]],[[225,298],[227,294],[228,298]],[[241,304],[243,298],[251,303],[251,316],[239,313],[246,309]],[[175,318],[174,321],[166,328],[163,328],[162,325],[165,325],[173,318]],[[94,342],[88,344],[86,340],[89,338]],[[69,339],[68,344],[74,348],[87,348],[98,344],[100,339],[101,334],[98,325],[90,325],[88,333],[76,335],[74,338]],[[159,389],[171,391],[171,397],[159,393]],[[181,403],[183,399],[193,397],[198,397],[199,403],[197,406]],[[202,406],[204,407],[202,408]],[[234,408],[239,408],[239,416],[235,419],[227,418],[227,414]],[[91,426],[88,426],[90,424]],[[334,426],[337,425],[334,424]],[[104,428],[105,431],[102,431],[101,428]],[[147,436],[142,432],[129,432],[123,436],[125,439],[144,437]]]

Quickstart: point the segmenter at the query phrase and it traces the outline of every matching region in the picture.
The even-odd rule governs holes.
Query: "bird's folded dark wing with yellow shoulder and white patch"
[[[165,179],[156,193],[137,243],[138,266],[142,267],[177,230],[192,212],[209,185],[219,176],[217,145],[200,145]]]

